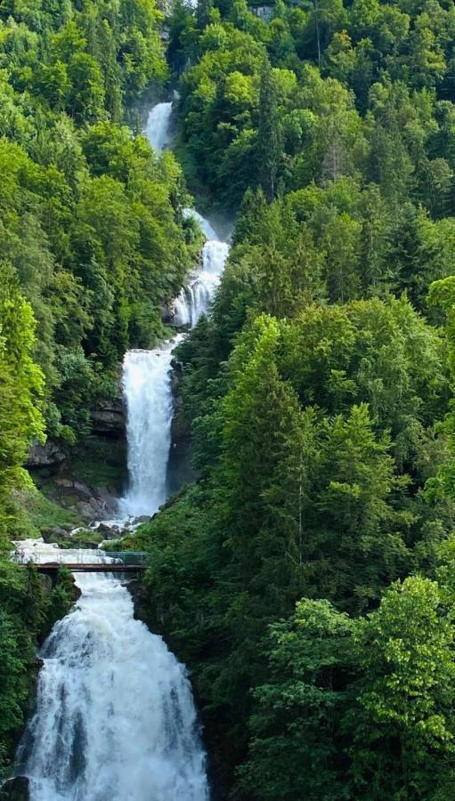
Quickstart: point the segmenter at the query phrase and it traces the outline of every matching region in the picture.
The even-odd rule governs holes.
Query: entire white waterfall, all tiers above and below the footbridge
[[[150,111],[145,133],[155,150],[169,143],[171,103]],[[206,236],[202,261],[175,298],[174,326],[207,313],[229,246],[193,210]],[[172,359],[184,334],[150,351],[126,353],[129,481],[119,515],[151,515],[167,499],[173,419]],[[56,546],[19,544],[49,562]],[[66,562],[109,559],[102,551],[59,551]],[[76,573],[81,596],[39,656],[35,714],[22,738],[17,775],[31,801],[207,801],[206,756],[185,668],[158,635],[134,619],[121,578]]]

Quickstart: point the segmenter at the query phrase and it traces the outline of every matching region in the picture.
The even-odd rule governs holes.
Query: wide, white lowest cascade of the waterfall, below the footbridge
[[[42,648],[20,746],[30,801],[207,801],[184,667],[134,619],[120,579],[76,575],[82,595]]]

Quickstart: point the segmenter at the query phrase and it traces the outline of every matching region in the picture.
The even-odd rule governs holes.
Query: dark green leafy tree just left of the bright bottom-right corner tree
[[[270,627],[267,684],[254,693],[248,762],[239,772],[251,797],[350,797],[343,718],[355,675],[353,630],[353,620],[327,601],[308,600]]]

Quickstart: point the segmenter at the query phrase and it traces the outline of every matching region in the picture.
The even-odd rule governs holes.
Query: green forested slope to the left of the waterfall
[[[8,562],[28,447],[89,433],[199,255],[175,158],[138,134],[145,90],[168,77],[162,21],[152,0],[0,4],[0,772],[37,641],[74,595],[64,574],[46,592]]]

